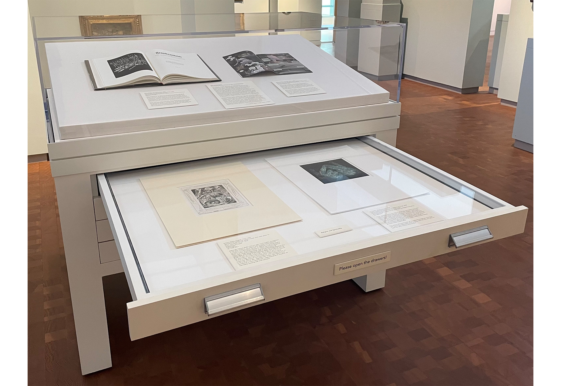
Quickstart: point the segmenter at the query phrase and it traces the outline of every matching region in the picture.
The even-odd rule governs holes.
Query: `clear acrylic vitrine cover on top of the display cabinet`
[[[328,17],[309,12],[144,14],[140,15],[140,20],[140,34],[105,36],[100,32],[96,36],[80,36],[83,31],[80,31],[79,16],[32,17],[45,106],[57,104],[57,116],[48,115],[49,124],[50,120],[57,120],[56,127],[49,130],[50,142],[141,129],[177,127],[179,122],[185,123],[185,119],[196,124],[232,120],[233,113],[219,118],[223,108],[220,105],[212,108],[214,98],[204,104],[199,103],[197,107],[174,109],[182,110],[179,112],[169,109],[145,111],[143,103],[138,104],[137,110],[133,111],[131,109],[135,108],[135,104],[128,102],[132,95],[138,94],[137,89],[113,90],[111,95],[108,95],[110,93],[107,90],[90,92],[96,86],[91,80],[93,75],[90,66],[96,72],[93,61],[112,55],[114,59],[123,60],[122,54],[131,49],[145,50],[145,55],[150,55],[153,50],[196,52],[211,71],[216,72],[222,81],[228,82],[240,80],[240,76],[232,68],[228,68],[223,57],[245,51],[256,55],[280,54],[278,50],[281,50],[283,54],[289,54],[292,59],[310,69],[309,75],[301,73],[298,77],[309,78],[319,88],[327,91],[325,94],[300,97],[298,106],[291,106],[295,102],[294,98],[287,98],[283,94],[278,98],[274,97],[279,91],[271,85],[269,77],[257,74],[255,77],[244,78],[256,83],[261,89],[269,89],[263,91],[273,99],[274,106],[260,109],[260,116],[263,117],[317,111],[325,103],[338,107],[364,105],[367,96],[371,97],[370,104],[399,102],[404,24],[344,16]],[[325,32],[329,33],[326,35]],[[250,36],[251,39],[247,39]],[[218,37],[232,39],[216,39]],[[205,39],[200,40],[201,38]],[[209,38],[212,40],[208,40]],[[303,44],[304,42],[307,44]],[[89,63],[85,64],[85,61]],[[288,61],[285,59],[284,63],[278,65],[286,66],[286,62]],[[342,64],[346,66],[341,67]],[[350,69],[354,69],[355,74]],[[178,89],[179,86],[169,85],[167,89]],[[202,95],[197,92],[199,89],[203,90]],[[196,94],[201,98],[207,94],[205,85],[192,84],[190,91],[197,101],[199,99]],[[51,103],[47,104],[49,92],[53,95]],[[362,97],[363,101],[351,101],[348,97]],[[315,102],[316,106],[305,107],[302,100]],[[95,111],[99,109],[104,110],[106,118],[95,115]],[[200,117],[194,117],[191,120],[201,109],[211,113],[213,119],[201,120]],[[123,114],[123,111],[129,111],[130,114]],[[187,111],[187,114],[181,114],[183,111]],[[240,111],[236,113],[239,115]],[[162,118],[162,122],[148,125],[139,121],[139,118],[159,117],[168,119]],[[236,118],[243,117],[255,118],[257,115]],[[118,128],[109,129],[110,125]]]

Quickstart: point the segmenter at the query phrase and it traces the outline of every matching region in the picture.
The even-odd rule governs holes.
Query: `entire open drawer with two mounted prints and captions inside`
[[[266,187],[272,196],[252,194],[228,174],[232,164],[259,180],[260,194]],[[210,201],[200,199],[197,189],[204,184],[189,180],[181,187],[166,179],[205,170],[211,171]],[[217,182],[220,170],[225,175]],[[173,192],[185,194],[180,204],[191,209],[166,211],[165,197],[154,193],[158,181],[175,184]],[[226,183],[217,188],[222,181],[243,186],[236,192]],[[132,340],[519,234],[527,215],[526,207],[513,207],[373,137],[99,174],[98,185],[134,299],[127,304]],[[259,210],[263,202],[273,207],[263,216],[227,215]],[[275,213],[278,207],[282,213]],[[251,230],[251,218],[259,229]],[[278,218],[285,218],[283,225],[267,227]],[[189,242],[178,241],[175,220]],[[243,234],[196,239],[232,227]],[[259,237],[269,244],[255,241]],[[177,248],[181,243],[190,245]]]

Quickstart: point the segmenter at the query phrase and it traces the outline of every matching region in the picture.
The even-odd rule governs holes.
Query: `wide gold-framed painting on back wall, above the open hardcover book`
[[[80,16],[82,36],[142,35],[140,15]]]

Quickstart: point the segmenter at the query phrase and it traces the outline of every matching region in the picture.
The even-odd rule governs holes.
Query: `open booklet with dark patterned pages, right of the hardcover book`
[[[254,54],[240,51],[223,57],[241,77],[273,72],[276,75],[301,74],[311,72],[291,54]]]

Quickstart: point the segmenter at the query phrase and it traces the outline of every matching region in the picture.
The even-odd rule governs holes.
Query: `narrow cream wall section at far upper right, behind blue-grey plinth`
[[[534,38],[534,12],[528,0],[512,0],[504,42],[498,97],[518,102],[528,38]]]

